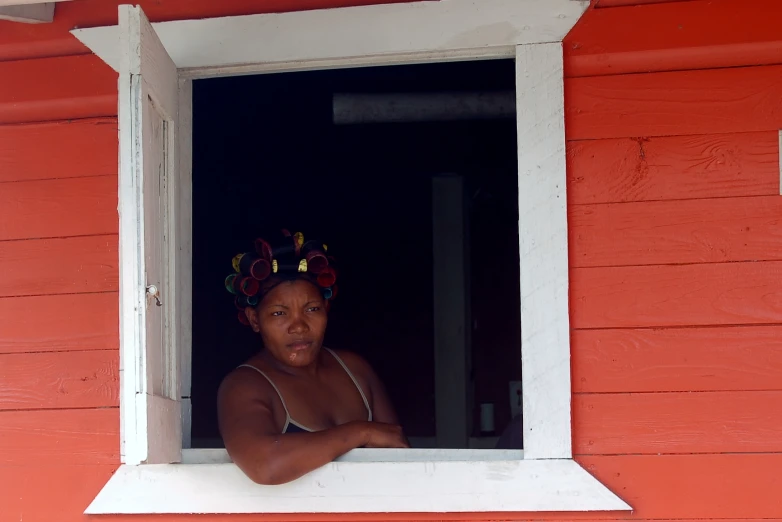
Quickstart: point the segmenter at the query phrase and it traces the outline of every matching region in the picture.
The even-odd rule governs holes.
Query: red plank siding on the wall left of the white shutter
[[[0,78],[0,520],[83,521],[119,464],[116,74]]]

